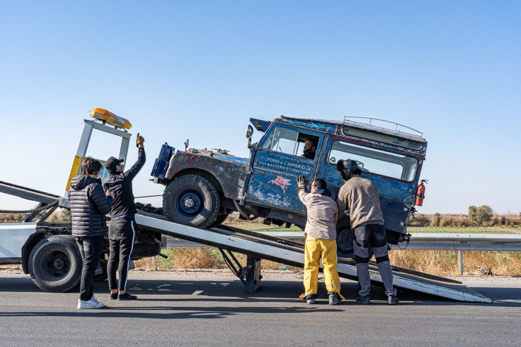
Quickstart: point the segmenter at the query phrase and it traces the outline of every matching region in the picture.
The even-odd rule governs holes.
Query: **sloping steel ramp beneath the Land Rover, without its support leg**
[[[271,260],[297,267],[304,266],[304,245],[300,242],[290,240],[279,240],[267,235],[234,228],[230,226],[216,227],[212,229],[197,229],[194,227],[169,222],[162,215],[138,212],[135,216],[138,226],[157,231],[159,233],[202,243],[204,245],[228,249],[230,251],[243,254],[250,254],[258,258]],[[337,266],[339,275],[344,278],[357,280],[356,266],[340,262]],[[393,285],[427,294],[437,295],[438,297],[448,298],[458,301],[490,303],[492,300],[473,289],[462,284],[453,283],[454,281],[433,280],[425,277],[436,278],[425,274],[425,277],[415,276],[410,273],[393,271]],[[405,270],[405,269],[404,269]],[[421,274],[421,273],[418,273]],[[369,267],[371,281],[382,283],[378,269],[375,266]],[[442,279],[441,277],[439,277]]]

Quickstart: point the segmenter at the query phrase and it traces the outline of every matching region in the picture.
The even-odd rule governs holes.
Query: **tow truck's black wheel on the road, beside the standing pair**
[[[75,288],[81,279],[81,253],[70,235],[44,238],[29,256],[29,274],[36,286],[60,293]]]

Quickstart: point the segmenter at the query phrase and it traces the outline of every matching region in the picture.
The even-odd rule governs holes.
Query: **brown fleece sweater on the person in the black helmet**
[[[337,198],[338,210],[349,210],[351,229],[368,222],[382,222],[378,187],[367,178],[353,176],[340,187]]]

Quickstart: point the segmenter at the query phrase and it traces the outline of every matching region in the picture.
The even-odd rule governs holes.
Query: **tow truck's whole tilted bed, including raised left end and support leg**
[[[0,192],[39,202],[37,209],[41,211],[38,211],[38,213],[31,211],[23,219],[23,222],[36,220],[37,225],[47,224],[45,219],[57,208],[58,200],[60,206],[68,205],[67,198],[3,181],[0,181]],[[135,219],[139,228],[218,248],[232,272],[241,279],[246,286],[246,290],[250,292],[255,291],[260,285],[262,259],[297,267],[304,266],[304,244],[301,242],[263,235],[227,225],[220,225],[211,229],[198,229],[170,222],[162,214],[145,211],[138,211]],[[27,224],[28,227],[34,227],[32,223]],[[3,226],[0,223],[0,232],[2,232],[2,229]],[[246,254],[246,266],[241,266],[232,252]],[[357,280],[356,266],[352,261],[340,259],[337,268],[341,277]],[[382,284],[376,263],[370,264],[369,274],[373,284]],[[398,288],[457,301],[492,302],[490,298],[453,279],[398,266],[393,266],[393,276],[393,284]]]

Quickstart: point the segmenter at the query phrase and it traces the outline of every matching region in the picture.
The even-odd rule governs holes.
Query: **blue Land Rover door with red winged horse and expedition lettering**
[[[315,140],[316,155],[304,158],[306,138]],[[323,134],[282,124],[273,124],[257,146],[246,200],[282,211],[305,214],[296,179],[304,175],[308,188],[314,178]],[[309,191],[309,190],[308,190]]]

